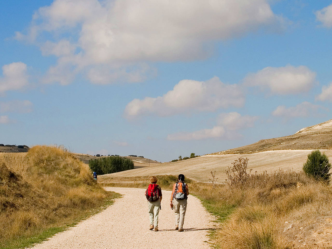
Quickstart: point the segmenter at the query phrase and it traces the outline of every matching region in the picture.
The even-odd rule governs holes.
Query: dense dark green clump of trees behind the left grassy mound
[[[134,162],[126,157],[110,156],[98,159],[91,159],[89,167],[98,175],[111,174],[134,168]]]

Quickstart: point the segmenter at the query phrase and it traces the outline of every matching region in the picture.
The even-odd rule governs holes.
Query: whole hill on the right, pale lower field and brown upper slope
[[[209,182],[211,171],[215,171],[218,183],[223,183],[225,170],[239,157],[247,157],[248,169],[252,173],[263,171],[301,170],[307,155],[313,149],[332,160],[332,120],[310,127],[305,127],[293,135],[260,140],[256,143],[235,149],[220,151],[201,157],[156,166],[136,168],[133,170],[100,176],[101,181],[115,180],[118,177],[177,175],[185,176],[200,182]]]

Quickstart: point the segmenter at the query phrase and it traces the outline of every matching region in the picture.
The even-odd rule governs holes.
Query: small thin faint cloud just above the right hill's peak
[[[286,106],[278,106],[276,110],[272,112],[272,115],[284,118],[305,118],[319,115],[320,110],[326,110],[326,108],[305,101],[289,108]]]

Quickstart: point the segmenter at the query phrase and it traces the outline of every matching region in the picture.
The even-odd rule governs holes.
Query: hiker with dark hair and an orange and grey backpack
[[[187,199],[189,195],[188,185],[184,182],[185,176],[180,174],[178,181],[173,185],[171,195],[171,208],[175,211],[175,230],[183,232],[183,222],[187,210]]]

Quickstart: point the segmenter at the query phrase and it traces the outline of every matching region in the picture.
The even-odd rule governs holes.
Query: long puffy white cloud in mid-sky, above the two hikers
[[[234,84],[224,84],[218,77],[207,81],[181,80],[162,97],[134,99],[127,104],[124,117],[133,119],[155,114],[171,116],[192,111],[213,112],[219,108],[242,107],[245,97]]]

